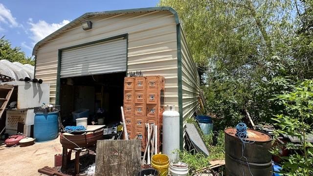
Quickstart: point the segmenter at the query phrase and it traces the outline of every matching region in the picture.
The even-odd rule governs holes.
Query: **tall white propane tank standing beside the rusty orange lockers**
[[[179,112],[174,110],[174,106],[169,106],[163,112],[162,127],[162,153],[169,156],[172,162],[178,161],[179,156]]]

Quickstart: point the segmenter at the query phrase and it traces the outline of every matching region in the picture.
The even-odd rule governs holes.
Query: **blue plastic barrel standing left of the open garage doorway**
[[[36,113],[34,120],[34,138],[36,142],[52,140],[58,137],[59,112]]]

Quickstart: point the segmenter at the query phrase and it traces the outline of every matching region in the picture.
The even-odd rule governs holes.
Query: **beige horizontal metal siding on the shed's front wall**
[[[165,105],[178,105],[177,36],[172,13],[119,14],[89,20],[92,29],[73,26],[38,48],[36,78],[51,84],[50,103],[55,103],[58,49],[128,33],[128,71],[164,76]]]

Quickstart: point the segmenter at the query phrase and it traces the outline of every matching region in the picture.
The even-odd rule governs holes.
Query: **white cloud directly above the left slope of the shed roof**
[[[36,44],[69,22],[68,20],[63,20],[60,23],[47,23],[44,20],[33,22],[32,19],[28,19],[28,24],[31,26],[29,29],[31,32],[30,39],[32,39],[33,44]]]

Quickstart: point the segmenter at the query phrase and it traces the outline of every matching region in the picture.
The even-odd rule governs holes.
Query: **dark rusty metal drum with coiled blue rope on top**
[[[225,132],[226,176],[272,176],[271,137],[263,132],[247,129],[246,143],[236,136],[235,128]]]

